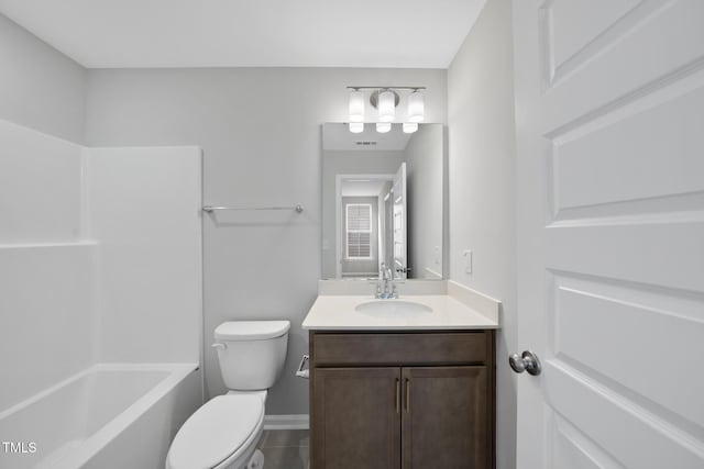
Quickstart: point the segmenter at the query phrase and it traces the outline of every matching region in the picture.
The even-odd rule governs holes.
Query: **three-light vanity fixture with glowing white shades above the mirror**
[[[348,87],[348,89],[350,90],[350,132],[352,133],[364,131],[364,91],[371,91],[370,103],[377,110],[376,132],[391,131],[391,123],[396,119],[396,107],[400,101],[399,91],[408,92],[404,132],[416,132],[418,122],[425,120],[424,90],[426,87]]]

